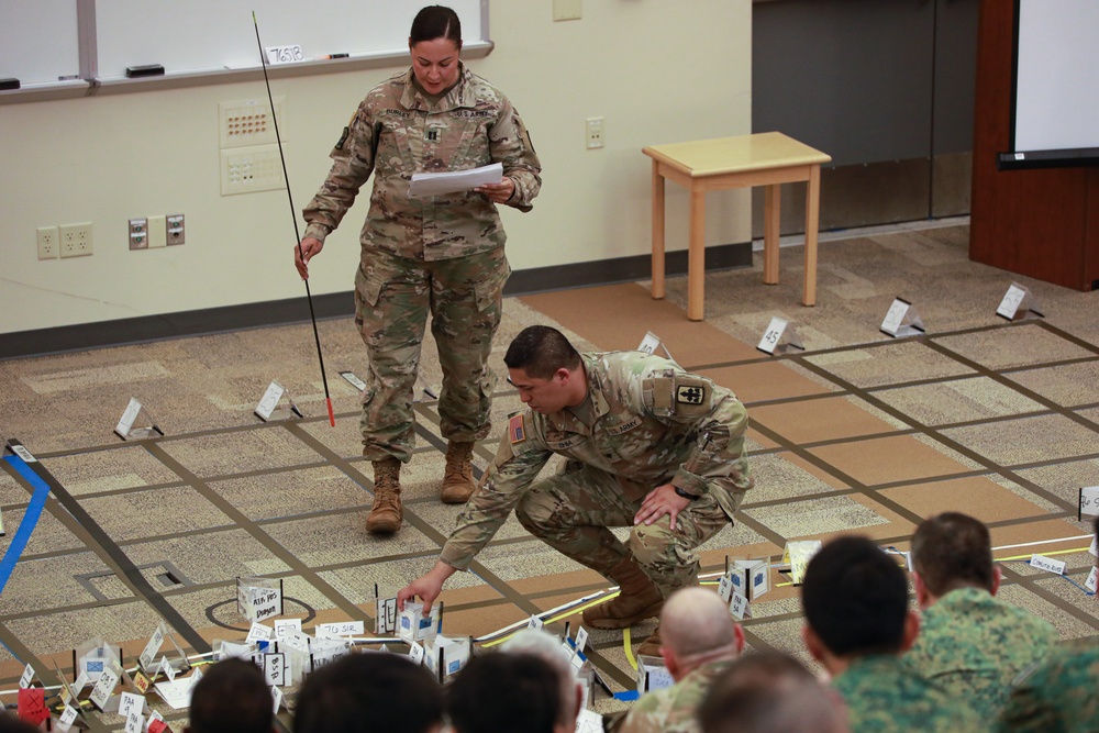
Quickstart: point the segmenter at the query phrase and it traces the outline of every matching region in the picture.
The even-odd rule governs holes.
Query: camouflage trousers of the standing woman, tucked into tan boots
[[[412,458],[412,389],[429,312],[443,370],[443,437],[466,443],[488,435],[496,388],[488,357],[510,274],[502,247],[436,262],[364,247],[355,276],[355,323],[369,358],[359,422],[368,460]]]

